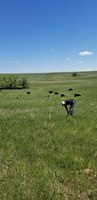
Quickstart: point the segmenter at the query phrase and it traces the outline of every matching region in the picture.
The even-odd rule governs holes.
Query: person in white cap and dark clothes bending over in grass
[[[68,115],[73,115],[76,101],[74,99],[67,99],[61,102],[62,106],[66,108]]]

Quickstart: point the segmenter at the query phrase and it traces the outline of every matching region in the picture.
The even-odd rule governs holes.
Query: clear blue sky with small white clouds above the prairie
[[[97,0],[0,0],[0,73],[97,70]]]

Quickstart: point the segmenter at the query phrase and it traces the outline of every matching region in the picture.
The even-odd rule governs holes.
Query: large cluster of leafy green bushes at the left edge
[[[0,89],[25,89],[29,87],[26,78],[19,79],[15,75],[7,75],[0,77]]]

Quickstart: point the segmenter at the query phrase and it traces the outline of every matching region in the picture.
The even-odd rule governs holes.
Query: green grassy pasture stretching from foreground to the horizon
[[[28,90],[1,90],[0,200],[97,200],[97,72],[79,74],[19,74]]]

